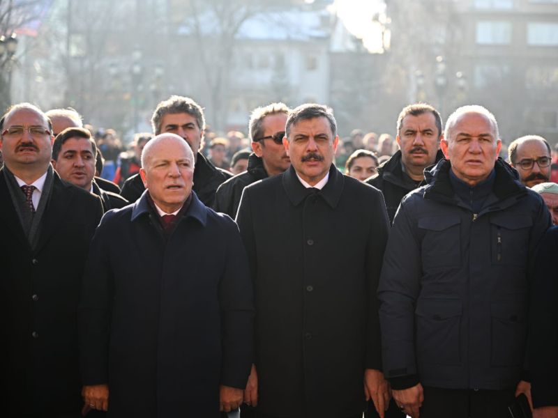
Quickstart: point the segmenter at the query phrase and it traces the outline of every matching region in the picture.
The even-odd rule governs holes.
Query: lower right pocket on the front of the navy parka
[[[527,326],[521,302],[496,302],[490,306],[492,366],[521,366],[525,357]]]

